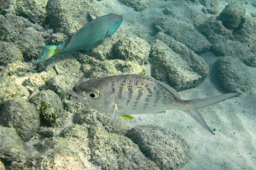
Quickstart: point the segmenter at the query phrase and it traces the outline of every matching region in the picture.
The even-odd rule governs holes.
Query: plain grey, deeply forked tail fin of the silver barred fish
[[[189,108],[188,110],[186,110],[186,113],[188,113],[188,115],[191,115],[191,117],[195,118],[195,120],[199,122],[199,124],[201,124],[205,129],[207,129],[207,131],[214,134],[209,128],[209,126],[205,123],[204,118],[200,115],[200,113],[196,109],[204,108],[206,106],[219,103],[227,99],[231,99],[232,97],[235,97],[238,95],[239,93],[229,93],[229,94],[222,94],[219,96],[207,97],[204,99],[190,100],[190,102],[193,104],[193,108]]]

